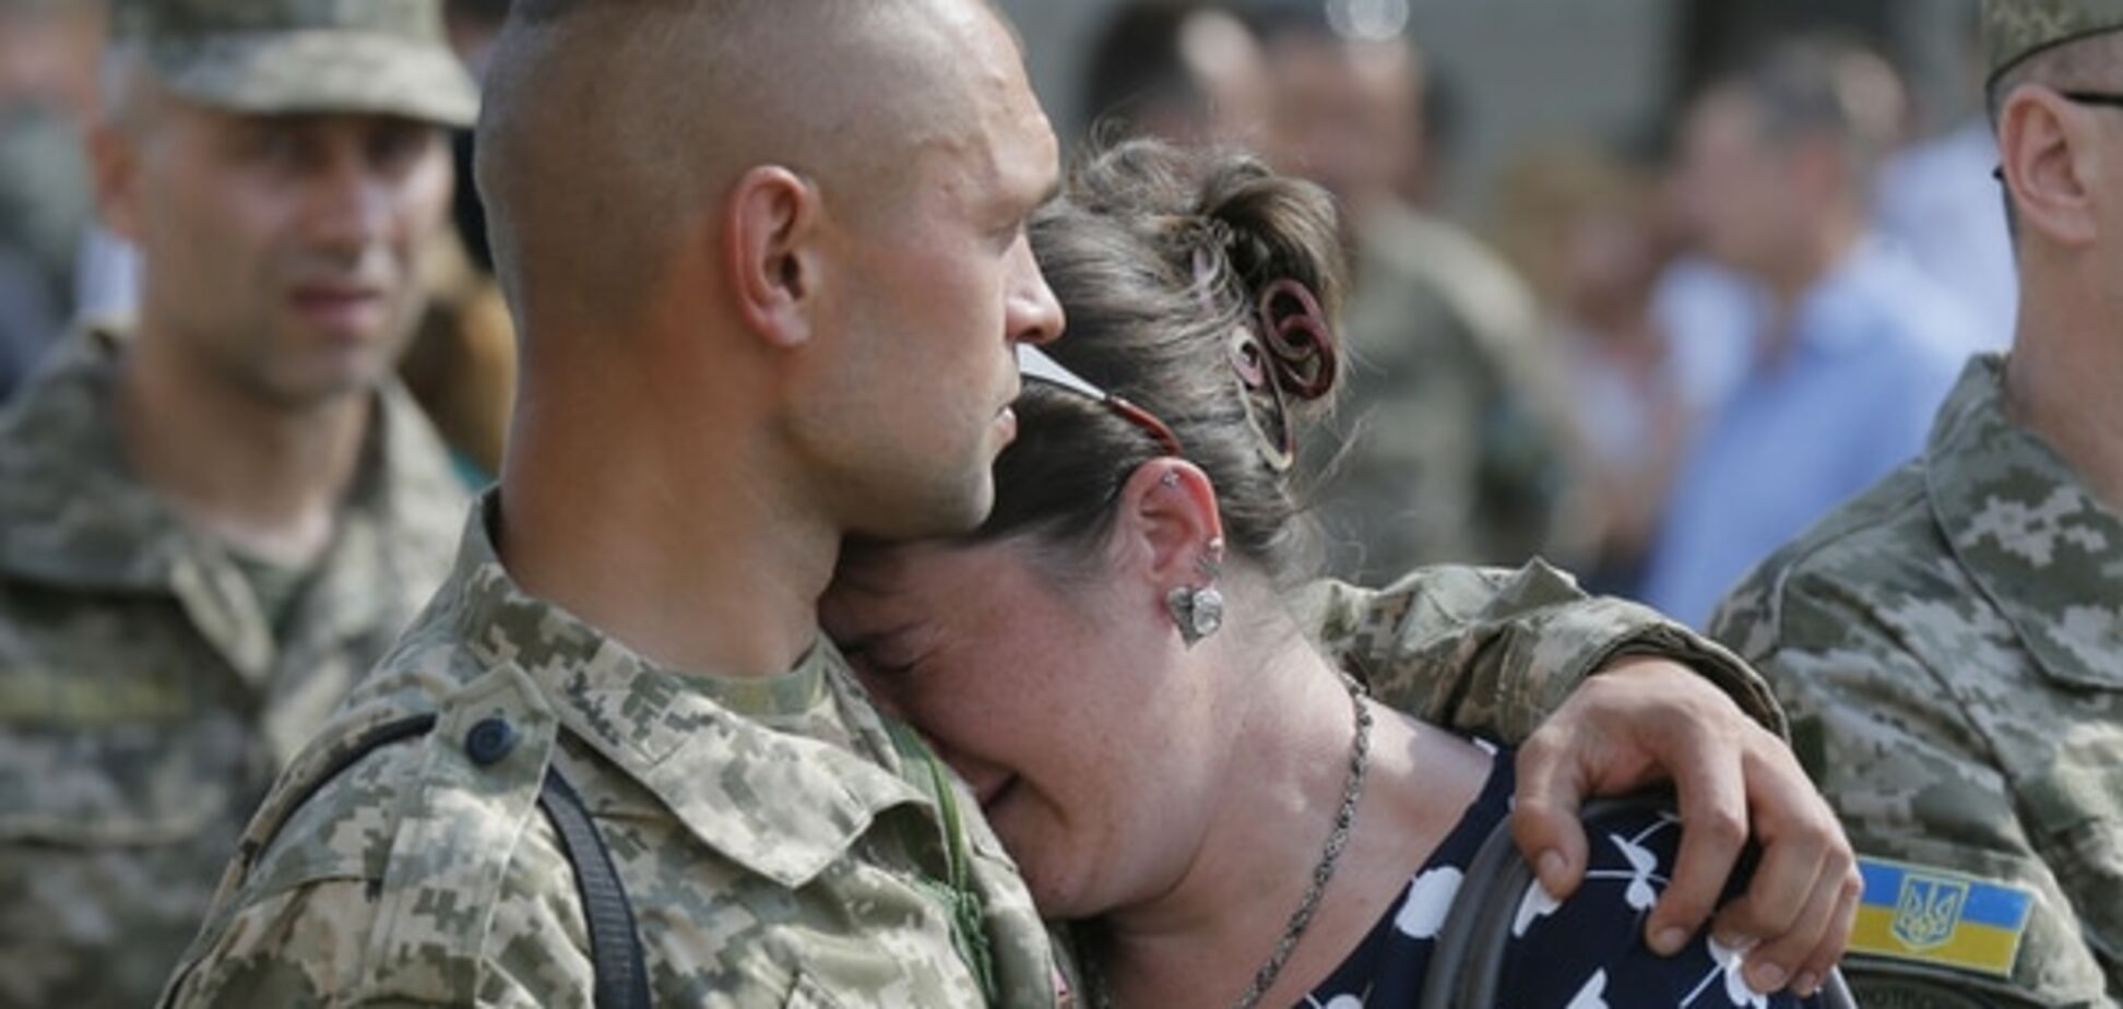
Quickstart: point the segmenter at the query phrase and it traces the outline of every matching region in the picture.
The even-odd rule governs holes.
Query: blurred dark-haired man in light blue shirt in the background
[[[1909,459],[1977,348],[1955,295],[1868,238],[1870,166],[1900,108],[1883,59],[1800,38],[1688,110],[1690,225],[1768,306],[1652,548],[1643,597],[1684,622],[1701,627],[1747,567]]]

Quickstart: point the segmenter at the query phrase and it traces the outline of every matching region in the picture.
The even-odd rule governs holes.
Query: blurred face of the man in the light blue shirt
[[[1705,93],[1681,123],[1675,200],[1684,227],[1734,270],[1775,272],[1802,240],[1809,202],[1785,147],[1734,87]]]

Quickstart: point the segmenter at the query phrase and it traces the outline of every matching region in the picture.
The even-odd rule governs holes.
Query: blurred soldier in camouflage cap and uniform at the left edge
[[[359,11],[359,13],[357,13]],[[0,1005],[142,1005],[465,501],[389,376],[476,96],[429,4],[155,2],[96,140],[146,253],[0,418]]]

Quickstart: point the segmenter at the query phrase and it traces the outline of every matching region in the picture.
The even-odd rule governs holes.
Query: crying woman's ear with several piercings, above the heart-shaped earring
[[[1212,582],[1223,561],[1216,486],[1197,465],[1159,457],[1121,486],[1115,540],[1123,574],[1146,580],[1163,599],[1172,588]]]

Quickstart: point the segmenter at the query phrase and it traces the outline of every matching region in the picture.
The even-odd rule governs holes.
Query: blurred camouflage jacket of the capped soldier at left
[[[0,1007],[146,1005],[274,773],[448,571],[465,493],[380,397],[340,535],[267,629],[127,469],[119,338],[79,334],[0,418]]]

